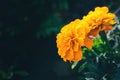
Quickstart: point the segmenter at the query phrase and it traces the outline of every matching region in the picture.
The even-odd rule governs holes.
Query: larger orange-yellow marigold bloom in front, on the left
[[[65,25],[57,35],[58,54],[64,61],[79,61],[82,59],[81,46],[88,29],[86,22],[76,19]],[[86,31],[86,32],[85,32]]]

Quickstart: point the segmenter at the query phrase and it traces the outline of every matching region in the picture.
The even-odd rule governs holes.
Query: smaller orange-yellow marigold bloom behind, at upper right
[[[115,24],[115,14],[109,13],[107,7],[96,7],[94,11],[90,11],[87,16],[83,17],[83,20],[86,21],[91,30],[85,38],[85,46],[89,49],[92,49],[93,39],[96,37],[100,31],[111,30],[113,24]]]

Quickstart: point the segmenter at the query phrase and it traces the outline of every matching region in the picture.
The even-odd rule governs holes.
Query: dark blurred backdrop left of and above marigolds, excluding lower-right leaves
[[[118,0],[119,2],[119,0]],[[117,0],[0,0],[0,70],[11,65],[27,77],[11,80],[77,80],[75,70],[57,54],[56,34],[96,6]],[[66,72],[66,73],[65,73]]]

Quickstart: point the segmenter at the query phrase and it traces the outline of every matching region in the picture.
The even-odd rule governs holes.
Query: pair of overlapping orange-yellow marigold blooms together
[[[65,25],[57,35],[58,54],[64,61],[77,62],[82,59],[82,47],[92,49],[94,38],[100,31],[111,30],[115,14],[108,7],[96,7],[83,18]]]

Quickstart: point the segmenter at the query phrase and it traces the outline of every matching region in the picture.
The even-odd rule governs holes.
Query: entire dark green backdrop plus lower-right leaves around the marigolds
[[[83,48],[85,57],[73,70],[70,63],[59,60],[55,43],[56,34],[65,24],[82,18],[96,6],[108,6],[120,18],[119,3],[0,0],[0,80],[119,80],[119,27],[109,38],[101,33],[93,50]]]

